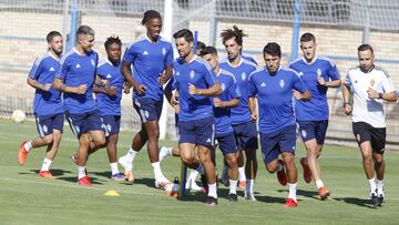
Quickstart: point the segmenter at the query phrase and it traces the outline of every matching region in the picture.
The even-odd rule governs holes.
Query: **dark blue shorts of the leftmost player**
[[[53,130],[63,131],[64,114],[59,113],[54,115],[35,115],[37,129],[40,137],[53,133]]]

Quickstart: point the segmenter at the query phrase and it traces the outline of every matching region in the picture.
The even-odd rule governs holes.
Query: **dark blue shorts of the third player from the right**
[[[260,133],[262,157],[265,164],[278,158],[283,152],[295,154],[296,126],[283,127],[280,131],[272,134]]]

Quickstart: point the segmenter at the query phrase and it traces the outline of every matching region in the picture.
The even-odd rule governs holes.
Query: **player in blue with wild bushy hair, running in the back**
[[[221,69],[234,74],[241,92],[239,105],[231,109],[236,143],[241,151],[241,157],[238,157],[238,166],[241,166],[238,167],[239,186],[245,188],[246,200],[256,201],[254,196],[254,181],[257,173],[257,130],[256,121],[250,121],[249,106],[254,103],[248,102],[248,76],[256,70],[256,64],[242,58],[243,37],[245,35],[243,30],[239,30],[236,25],[221,33],[222,42],[227,53],[227,59],[221,61]],[[246,155],[245,167],[242,151]],[[226,184],[226,182],[224,183]]]

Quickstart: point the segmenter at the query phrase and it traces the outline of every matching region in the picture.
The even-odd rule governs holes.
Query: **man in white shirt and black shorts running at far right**
[[[358,59],[359,67],[349,69],[344,81],[344,110],[347,115],[351,115],[354,134],[360,147],[362,166],[370,186],[371,203],[381,206],[385,197],[386,166],[383,101],[395,102],[398,96],[389,74],[374,64],[371,45],[361,44],[358,48]],[[350,96],[354,99],[352,105]]]

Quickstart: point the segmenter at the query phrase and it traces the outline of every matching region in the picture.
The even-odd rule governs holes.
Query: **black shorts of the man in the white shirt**
[[[383,153],[386,145],[387,129],[376,129],[365,122],[352,123],[354,134],[357,143],[360,145],[369,141],[374,152]]]

